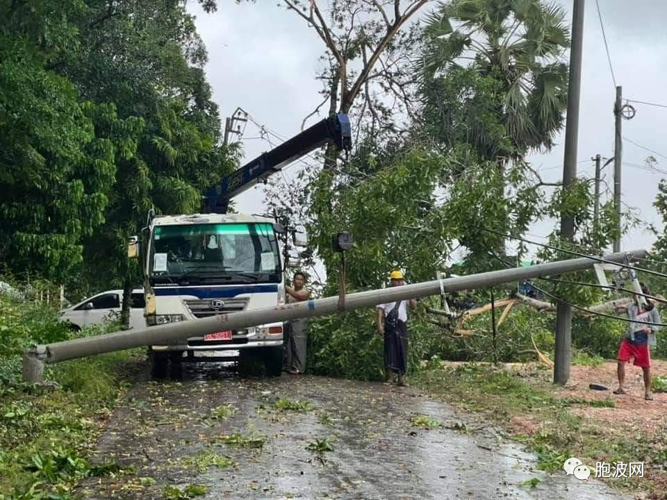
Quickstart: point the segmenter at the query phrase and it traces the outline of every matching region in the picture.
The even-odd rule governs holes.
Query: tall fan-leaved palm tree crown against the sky
[[[461,125],[481,158],[520,160],[530,150],[549,150],[567,101],[563,53],[570,40],[564,19],[562,8],[542,0],[441,3],[424,30],[420,63],[426,107],[443,111],[454,97],[454,105],[473,103],[466,113],[476,114],[483,92],[486,106],[494,107],[492,122],[504,128],[504,140],[488,121],[464,119]],[[466,73],[468,83],[471,76],[476,79],[473,85],[443,95],[443,87],[452,90],[447,80]],[[479,83],[486,83],[481,91]]]

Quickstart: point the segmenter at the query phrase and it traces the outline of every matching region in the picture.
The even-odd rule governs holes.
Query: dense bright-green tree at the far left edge
[[[63,279],[101,222],[115,174],[113,142],[135,126],[81,99],[52,68],[76,50],[77,1],[0,2],[0,261]]]

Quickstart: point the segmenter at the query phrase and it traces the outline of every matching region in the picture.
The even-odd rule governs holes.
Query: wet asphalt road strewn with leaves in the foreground
[[[279,401],[302,410],[281,410]],[[236,412],[213,418],[220,407]],[[415,426],[415,418],[440,426]],[[263,446],[224,442],[234,433]],[[318,440],[320,452],[306,449]],[[192,465],[211,454],[233,465]],[[83,497],[162,499],[164,485],[196,483],[208,488],[203,499],[627,498],[593,478],[536,470],[534,456],[493,427],[409,387],[242,379],[215,366],[188,368],[182,381],[135,385],[98,443],[96,460],[111,459],[137,474],[87,480]],[[533,478],[536,487],[520,485]]]

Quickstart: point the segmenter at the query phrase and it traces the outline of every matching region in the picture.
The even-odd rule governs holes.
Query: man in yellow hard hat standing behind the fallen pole
[[[392,271],[389,286],[404,285],[403,273]],[[417,301],[397,301],[377,306],[377,333],[384,336],[384,367],[390,382],[405,385],[408,367],[408,308],[417,308]]]

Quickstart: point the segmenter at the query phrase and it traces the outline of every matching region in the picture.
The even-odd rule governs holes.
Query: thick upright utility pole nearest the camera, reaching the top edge
[[[579,94],[582,86],[582,45],[584,41],[584,0],[574,0],[572,15],[572,45],[570,47],[570,81],[568,85],[568,115],[565,125],[565,161],[563,190],[568,190],[577,176],[577,144],[579,142]],[[572,241],[575,221],[572,215],[561,213],[561,238]],[[556,306],[556,352],[554,383],[565,385],[570,378],[572,342],[572,307],[559,302]]]

